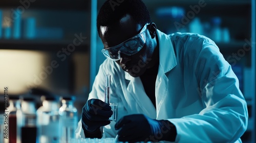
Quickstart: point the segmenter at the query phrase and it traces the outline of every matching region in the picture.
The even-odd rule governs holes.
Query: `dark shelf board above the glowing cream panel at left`
[[[72,43],[72,40],[0,40],[0,49],[59,51]],[[88,40],[75,46],[75,51],[88,52]]]

